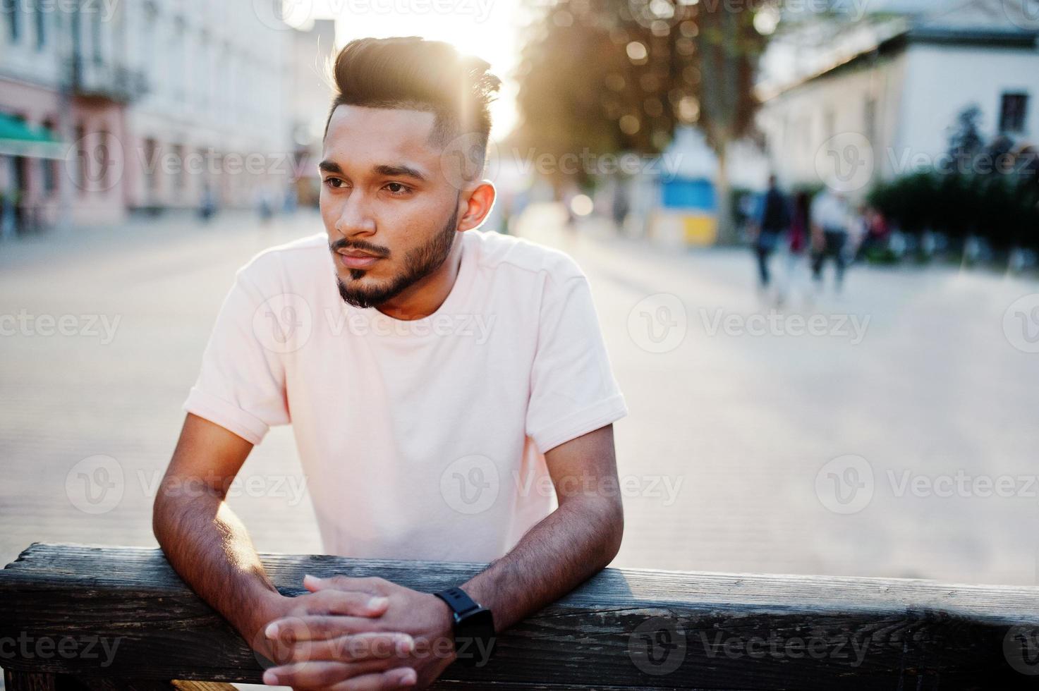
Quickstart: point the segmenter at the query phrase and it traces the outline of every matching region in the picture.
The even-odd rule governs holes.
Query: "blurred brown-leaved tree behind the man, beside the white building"
[[[730,238],[727,152],[751,130],[766,42],[754,11],[735,5],[560,0],[544,9],[517,73],[517,142],[557,157],[584,149],[651,155],[670,143],[677,125],[699,124],[718,154],[719,220]],[[562,184],[558,170],[553,178]]]

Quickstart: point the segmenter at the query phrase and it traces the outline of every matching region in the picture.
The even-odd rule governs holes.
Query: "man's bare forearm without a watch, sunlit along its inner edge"
[[[278,616],[282,595],[245,526],[215,489],[160,485],[153,529],[167,561],[250,644]]]

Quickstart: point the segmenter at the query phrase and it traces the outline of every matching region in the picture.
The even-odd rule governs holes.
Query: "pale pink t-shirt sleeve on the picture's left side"
[[[198,379],[184,402],[188,413],[254,445],[271,426],[289,423],[281,353],[257,333],[264,305],[260,291],[240,270],[220,307]]]

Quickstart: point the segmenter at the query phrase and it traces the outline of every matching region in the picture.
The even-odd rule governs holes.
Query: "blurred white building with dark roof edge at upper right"
[[[867,166],[861,184],[847,187],[864,194],[875,177],[938,161],[957,115],[973,105],[987,138],[1036,142],[1039,17],[1022,0],[888,0],[872,8],[876,18],[818,49],[777,42],[771,67],[795,78],[765,85],[758,124],[781,183],[822,185],[834,164],[849,175]],[[802,24],[801,33],[820,29]],[[805,67],[814,74],[804,76]]]

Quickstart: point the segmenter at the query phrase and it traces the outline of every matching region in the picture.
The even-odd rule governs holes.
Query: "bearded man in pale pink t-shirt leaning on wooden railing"
[[[455,659],[485,662],[495,631],[619,548],[612,423],[627,407],[588,281],[560,251],[474,230],[495,198],[480,180],[499,87],[487,67],[415,37],[339,53],[325,233],[238,271],[185,402],[155,533],[279,663],[268,684],[423,688]],[[224,497],[287,423],[327,552],[492,563],[439,594],[336,577],[281,595]]]

